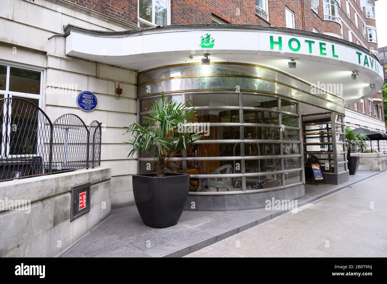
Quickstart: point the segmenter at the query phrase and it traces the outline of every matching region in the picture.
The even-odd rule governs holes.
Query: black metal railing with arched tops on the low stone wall
[[[98,121],[69,113],[52,123],[23,98],[0,99],[0,109],[0,181],[100,166]]]

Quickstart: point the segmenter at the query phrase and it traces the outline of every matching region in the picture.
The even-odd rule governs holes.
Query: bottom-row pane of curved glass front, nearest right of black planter
[[[229,192],[242,190],[242,178],[191,178],[190,192]]]

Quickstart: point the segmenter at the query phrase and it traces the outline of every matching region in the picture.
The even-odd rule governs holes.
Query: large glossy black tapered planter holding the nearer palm
[[[182,216],[189,191],[190,175],[155,173],[133,175],[133,194],[144,224],[151,228],[175,226]]]

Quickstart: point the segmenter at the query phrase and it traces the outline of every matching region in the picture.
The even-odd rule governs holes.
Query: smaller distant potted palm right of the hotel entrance
[[[350,127],[345,128],[345,142],[347,144],[347,161],[348,161],[348,169],[349,175],[356,174],[359,168],[360,157],[359,156],[351,156],[351,151],[356,148],[365,148],[365,141],[369,140],[368,136],[364,133],[355,134]]]

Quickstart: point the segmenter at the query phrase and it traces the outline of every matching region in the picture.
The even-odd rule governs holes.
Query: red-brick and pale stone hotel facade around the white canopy
[[[131,175],[137,161],[127,157],[122,127],[137,121],[137,71],[118,67],[119,62],[67,56],[63,27],[122,32],[216,23],[275,26],[344,39],[377,56],[374,17],[372,0],[8,0],[0,11],[0,94],[35,99],[51,118],[73,112],[86,123],[102,121],[101,165],[112,168],[111,205],[120,207],[134,202]],[[39,88],[2,89],[15,78],[33,78]],[[77,108],[74,98],[86,89],[99,97],[91,113]],[[345,115],[346,125],[385,132],[381,94],[365,98],[364,106],[347,106]]]

